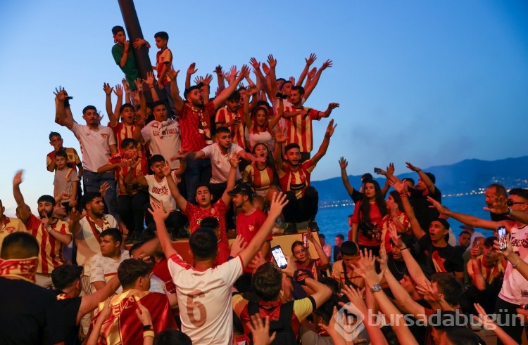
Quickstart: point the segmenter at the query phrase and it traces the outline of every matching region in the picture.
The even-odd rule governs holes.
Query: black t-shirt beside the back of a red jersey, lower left
[[[61,290],[54,290],[57,301],[54,304],[54,315],[52,321],[54,332],[63,339],[65,345],[79,345],[79,325],[77,325],[77,313],[81,306],[82,297],[68,298],[63,296]]]

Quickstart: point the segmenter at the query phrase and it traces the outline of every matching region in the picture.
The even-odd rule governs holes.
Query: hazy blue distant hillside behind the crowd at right
[[[396,167],[399,178],[412,177],[417,181],[417,174],[406,167]],[[501,183],[506,188],[528,187],[528,156],[506,158],[505,160],[463,160],[451,165],[424,169],[436,176],[436,186],[442,194],[466,193],[479,188],[486,188],[491,183]],[[405,174],[398,172],[409,171]],[[360,176],[348,176],[355,188],[360,188]],[[376,178],[383,185],[385,178]],[[349,200],[350,197],[341,182],[341,177],[324,181],[313,181],[312,185],[319,191],[322,203],[336,200]]]

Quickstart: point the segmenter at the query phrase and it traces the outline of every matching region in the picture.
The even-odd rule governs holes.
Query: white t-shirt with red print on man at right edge
[[[517,228],[517,225],[513,226],[510,231],[510,241],[513,252],[517,253],[521,260],[528,261],[528,226],[525,225],[522,228]],[[503,287],[498,297],[511,304],[521,304],[521,290],[528,290],[528,280],[508,261],[504,272]]]

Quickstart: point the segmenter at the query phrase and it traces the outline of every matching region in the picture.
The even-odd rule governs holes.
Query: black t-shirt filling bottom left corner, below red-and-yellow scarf
[[[0,277],[0,344],[57,344],[50,290],[19,279]]]

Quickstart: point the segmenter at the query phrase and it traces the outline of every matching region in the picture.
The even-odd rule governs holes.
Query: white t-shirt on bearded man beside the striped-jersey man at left
[[[74,234],[77,240],[77,265],[84,266],[84,275],[89,275],[89,259],[95,254],[101,254],[101,249],[87,216],[82,217],[79,224],[81,228]],[[118,221],[110,214],[105,214],[103,216],[103,228],[99,228],[97,224],[94,224],[94,228],[96,233],[99,234],[109,228],[118,228]]]

